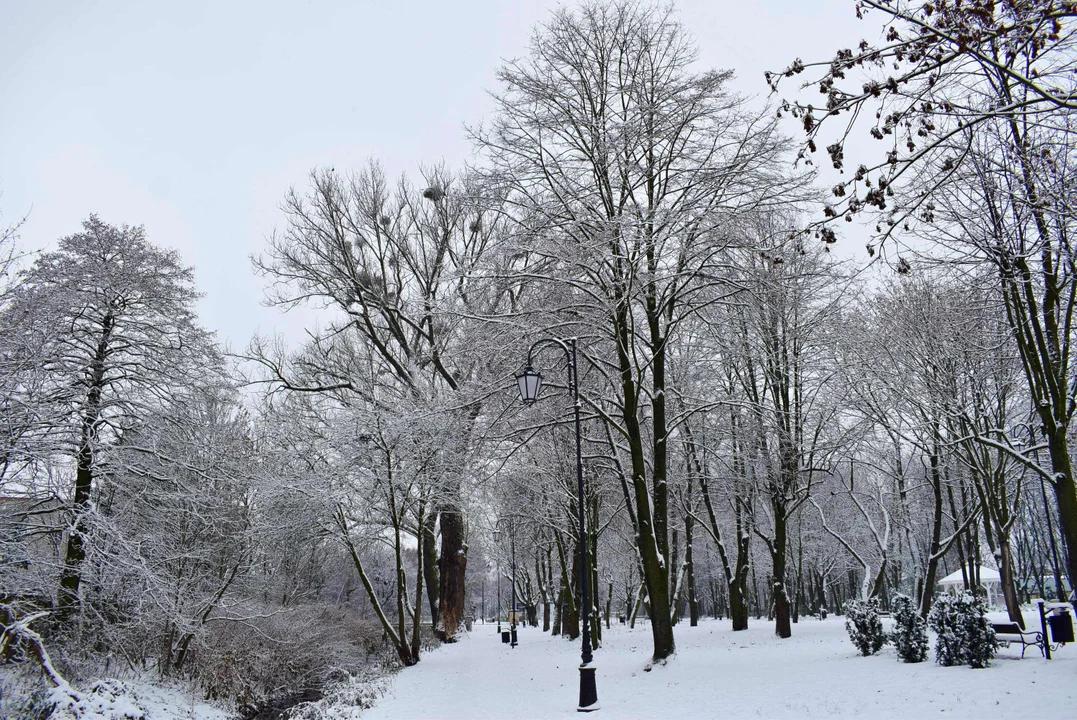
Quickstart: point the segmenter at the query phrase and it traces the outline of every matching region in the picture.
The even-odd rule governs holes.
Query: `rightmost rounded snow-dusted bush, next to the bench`
[[[939,665],[987,667],[995,657],[998,641],[983,598],[969,593],[942,595],[932,606],[927,622],[938,634],[935,661]]]

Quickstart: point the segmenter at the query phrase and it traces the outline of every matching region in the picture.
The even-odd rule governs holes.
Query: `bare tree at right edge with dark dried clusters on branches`
[[[815,150],[821,128],[834,124],[826,121],[842,114],[844,129],[827,146],[834,167],[843,167],[845,140],[858,121],[887,143],[834,187],[839,201],[826,209],[829,217],[873,211],[877,241],[920,231],[994,270],[1050,468],[1012,443],[995,442],[1054,489],[1073,579],[1077,10],[1061,0],[859,0],[856,8],[884,22],[884,45],[861,42],[829,62],[797,60],[769,75],[771,86],[825,68],[809,83],[827,97],[822,115],[812,105],[784,105],[807,132],[802,155]],[[861,80],[863,87],[850,87]],[[836,240],[829,227],[820,235]],[[997,429],[1004,437],[1005,428]]]

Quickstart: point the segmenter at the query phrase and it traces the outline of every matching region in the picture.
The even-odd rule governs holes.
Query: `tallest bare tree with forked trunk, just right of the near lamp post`
[[[589,403],[624,454],[656,660],[674,650],[668,348],[713,283],[722,220],[795,184],[775,171],[773,123],[728,93],[730,73],[695,72],[696,56],[670,10],[556,11],[499,71],[494,118],[474,132],[520,209],[528,277],[561,288],[549,325],[587,337],[607,387]]]

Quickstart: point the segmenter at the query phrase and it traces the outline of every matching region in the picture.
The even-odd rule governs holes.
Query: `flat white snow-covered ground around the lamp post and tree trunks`
[[[806,619],[779,640],[769,623],[676,626],[677,654],[645,673],[651,630],[614,627],[596,651],[601,718],[1077,718],[1077,647],[1050,663],[999,651],[987,669],[906,665],[889,646],[861,658],[842,620]],[[934,657],[934,655],[933,655]],[[582,718],[579,644],[520,630],[515,650],[493,625],[401,673],[363,720]]]

